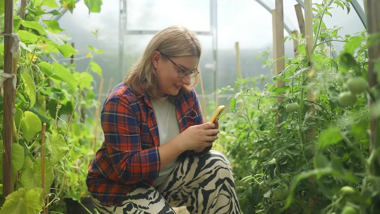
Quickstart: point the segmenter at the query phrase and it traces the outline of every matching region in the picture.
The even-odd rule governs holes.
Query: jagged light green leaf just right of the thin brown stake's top
[[[45,148],[49,150],[49,160],[52,166],[55,166],[55,164],[57,164],[68,151],[68,147],[62,134],[58,134],[55,130],[52,130],[52,134],[46,133]]]

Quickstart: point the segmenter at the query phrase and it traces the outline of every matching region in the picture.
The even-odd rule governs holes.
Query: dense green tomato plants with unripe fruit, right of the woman
[[[350,10],[344,0],[313,5],[312,54],[307,54],[304,38],[291,35],[299,42],[299,54],[283,57],[285,70],[273,83],[247,87],[257,79],[249,78],[222,89],[236,93],[230,97],[232,111],[220,120],[222,134],[234,138],[220,140],[233,163],[244,213],[380,212],[380,177],[372,173],[379,166],[379,151],[370,152],[370,135],[378,134],[368,131],[369,117],[380,115],[375,110],[380,109],[379,86],[367,83],[367,41],[380,37],[369,38],[366,31],[341,37],[339,27],[328,29],[323,16],[332,16],[332,3]],[[332,40],[345,43],[337,59]],[[277,87],[277,81],[286,84]],[[307,99],[310,87],[312,100]],[[372,113],[369,99],[377,101]],[[315,138],[309,137],[311,130]]]

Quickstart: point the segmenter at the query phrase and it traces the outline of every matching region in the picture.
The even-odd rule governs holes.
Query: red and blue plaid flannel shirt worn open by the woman
[[[193,89],[176,99],[177,120],[182,133],[189,126],[204,123],[198,97]],[[101,111],[105,140],[89,167],[86,184],[102,204],[122,203],[134,185],[152,185],[160,171],[157,121],[149,96],[136,96],[120,83],[108,94]],[[208,152],[188,150],[181,155]]]

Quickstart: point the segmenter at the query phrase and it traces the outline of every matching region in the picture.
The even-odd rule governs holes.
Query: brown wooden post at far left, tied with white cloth
[[[5,0],[4,34],[13,33],[13,0]],[[13,74],[13,37],[4,38],[4,72]],[[12,181],[12,141],[13,141],[13,83],[12,78],[4,81],[3,107],[3,198],[13,192]]]

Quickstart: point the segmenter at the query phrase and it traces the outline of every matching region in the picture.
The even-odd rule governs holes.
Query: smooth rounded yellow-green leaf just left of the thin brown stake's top
[[[30,111],[24,112],[24,120],[21,122],[22,136],[30,141],[36,133],[42,130],[42,124],[40,118]]]

